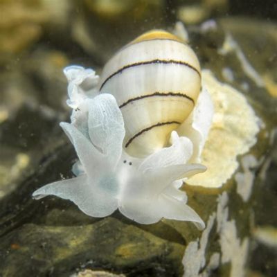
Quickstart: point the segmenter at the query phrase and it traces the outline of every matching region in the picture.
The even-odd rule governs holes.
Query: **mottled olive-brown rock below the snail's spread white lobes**
[[[7,249],[2,276],[16,276],[21,265],[21,276],[69,276],[82,267],[177,276],[184,252],[181,244],[112,217],[80,226],[25,224],[4,236],[0,249]]]

